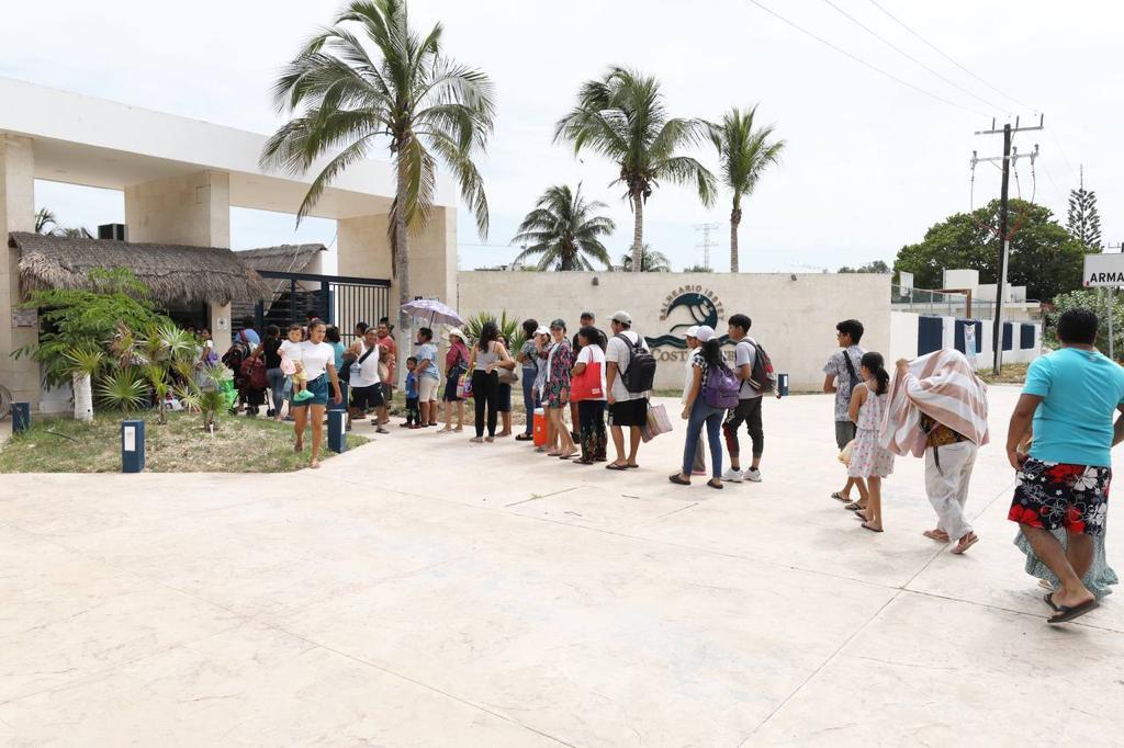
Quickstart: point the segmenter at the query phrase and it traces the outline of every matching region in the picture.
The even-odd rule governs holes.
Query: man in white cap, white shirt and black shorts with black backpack
[[[643,352],[651,358],[647,344],[638,332],[632,329],[632,314],[626,311],[614,312],[610,320],[613,337],[609,338],[605,350],[606,359],[606,386],[608,387],[609,401],[609,431],[613,435],[613,446],[617,450],[617,458],[606,465],[610,471],[624,471],[640,467],[636,464],[636,453],[640,450],[641,427],[647,423],[647,391],[635,391],[635,384],[643,372],[637,367],[629,373],[637,354]],[[626,385],[625,378],[632,385]],[[625,456],[624,429],[628,429],[628,455]]]

